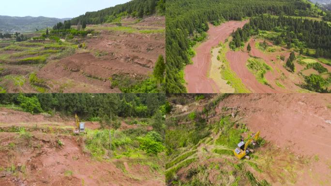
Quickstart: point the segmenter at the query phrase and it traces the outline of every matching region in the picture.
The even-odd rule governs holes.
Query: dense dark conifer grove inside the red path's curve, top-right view
[[[306,55],[331,58],[331,26],[325,21],[314,21],[288,16],[257,16],[252,17],[242,29],[239,28],[232,36],[232,45],[241,46],[247,42],[247,37],[257,35],[260,31],[275,31],[277,36],[271,38],[275,45],[285,43],[288,48],[299,47],[316,49],[315,55],[306,50]],[[230,44],[230,45],[231,45]]]

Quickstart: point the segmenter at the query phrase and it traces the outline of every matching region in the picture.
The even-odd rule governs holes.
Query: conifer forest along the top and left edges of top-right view
[[[178,8],[180,7],[180,8]],[[168,0],[166,3],[166,92],[184,93],[183,68],[190,62],[190,36],[208,30],[208,22],[241,20],[262,14],[310,16],[305,0]]]

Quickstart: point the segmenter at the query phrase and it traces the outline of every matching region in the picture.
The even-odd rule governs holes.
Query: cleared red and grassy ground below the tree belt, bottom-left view
[[[112,131],[116,145],[111,152],[103,152],[108,130],[98,122],[86,122],[86,135],[73,135],[74,126],[75,120],[60,115],[0,108],[0,185],[164,185],[162,155],[128,151],[133,131],[149,131],[150,126],[123,119],[120,129]]]

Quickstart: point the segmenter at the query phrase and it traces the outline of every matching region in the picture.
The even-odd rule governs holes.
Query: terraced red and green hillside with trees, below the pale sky
[[[47,31],[0,34],[0,92],[164,92],[165,16],[157,11],[163,1],[148,6],[142,17],[129,14],[147,2],[154,0],[118,5],[122,12],[111,11],[111,19],[101,22],[90,20],[108,9]]]

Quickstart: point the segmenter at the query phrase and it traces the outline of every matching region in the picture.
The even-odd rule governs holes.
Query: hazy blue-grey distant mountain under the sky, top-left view
[[[46,27],[53,27],[56,23],[69,19],[71,18],[0,16],[0,32],[35,31],[36,29],[40,30]]]

